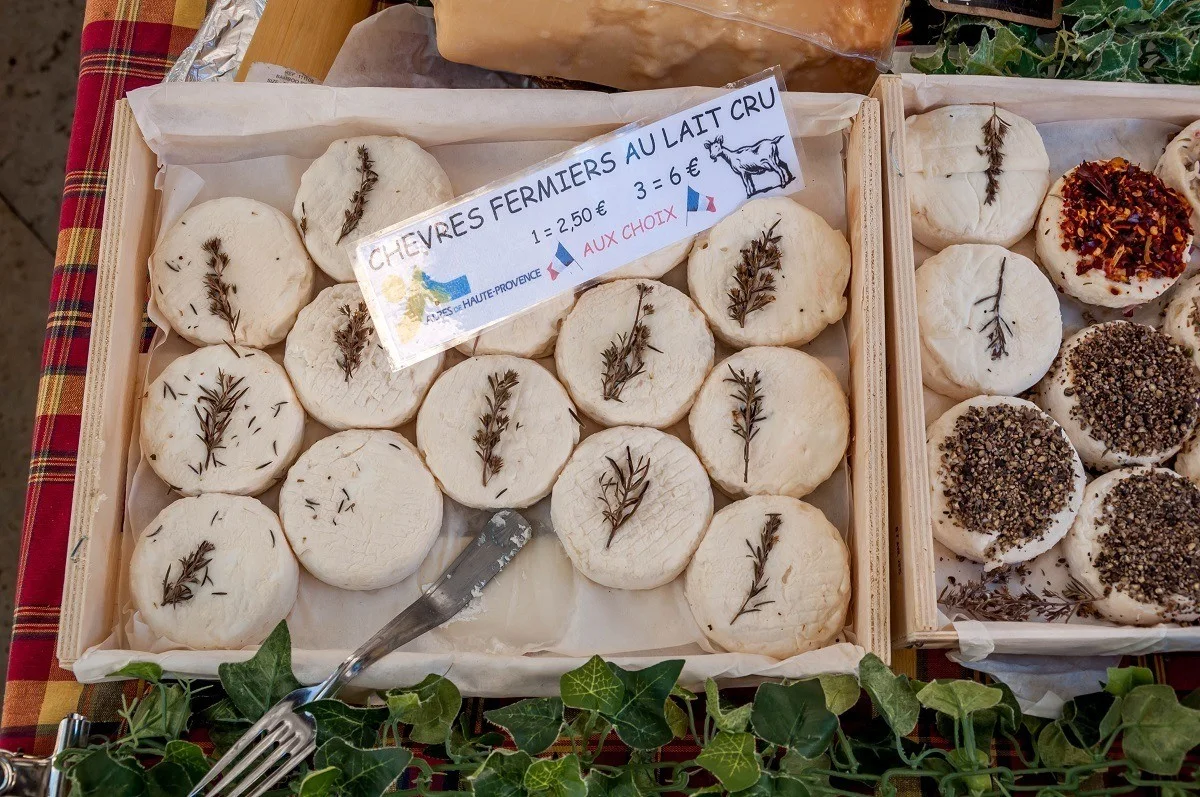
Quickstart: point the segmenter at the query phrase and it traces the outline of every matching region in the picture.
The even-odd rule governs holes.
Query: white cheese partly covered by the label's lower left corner
[[[304,408],[325,426],[392,429],[416,415],[444,358],[439,352],[394,371],[359,286],[346,283],[300,311],[283,366]]]

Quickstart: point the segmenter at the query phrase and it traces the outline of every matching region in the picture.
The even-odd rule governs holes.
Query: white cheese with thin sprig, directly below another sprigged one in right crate
[[[949,246],[917,269],[920,370],[952,398],[1015,396],[1062,344],[1058,294],[1033,260],[990,244]]]

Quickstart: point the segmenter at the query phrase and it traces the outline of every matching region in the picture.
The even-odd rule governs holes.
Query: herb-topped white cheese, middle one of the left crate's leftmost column
[[[304,409],[259,349],[208,346],[170,362],[142,396],[142,455],[185,496],[257,496],[287,471]]]

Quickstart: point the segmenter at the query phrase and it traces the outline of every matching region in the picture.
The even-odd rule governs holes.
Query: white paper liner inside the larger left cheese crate
[[[330,89],[323,86],[238,84],[233,86],[157,85],[130,96],[138,124],[166,166],[157,186],[163,200],[157,235],[188,206],[222,196],[247,196],[290,212],[300,175],[328,144],[341,137],[398,133],[413,138],[442,163],[456,192],[469,191],[578,140],[622,124],[661,116],[710,96],[710,90],[671,90],[631,95],[558,91],[438,91]],[[803,138],[808,187],[794,198],[846,229],[845,131],[862,97],[787,95]],[[528,139],[528,140],[522,140]],[[317,289],[328,281],[318,278]],[[685,268],[665,277],[685,289]],[[158,325],[151,354],[142,358],[142,385],[192,347],[170,334],[155,302]],[[270,349],[282,359],[282,346]],[[830,326],[805,350],[822,359],[848,385],[845,324]],[[730,352],[718,349],[718,359]],[[446,367],[463,358],[448,353]],[[542,364],[553,370],[552,358]],[[137,425],[134,424],[134,430]],[[587,424],[584,435],[596,431]],[[414,439],[413,425],[398,430]],[[668,430],[686,441],[686,423]],[[312,419],[306,445],[329,435]],[[115,444],[124,444],[118,442]],[[142,460],[137,435],[130,442],[131,478],[120,552],[116,627],[74,664],[82,682],[104,678],[133,660],[151,660],[179,675],[212,677],[222,661],[246,658],[228,651],[182,651],[156,636],[132,606],[127,564],[133,544],[150,520],[175,496]],[[260,498],[275,509],[278,487]],[[846,465],[808,498],[850,535],[851,496]],[[728,499],[718,495],[718,508]],[[372,592],[332,588],[306,573],[288,617],[293,664],[301,681],[324,678],[350,649],[365,641],[454,558],[490,513],[445,499],[443,533],[420,571]],[[526,510],[536,534],[491,585],[479,606],[448,625],[386,657],[359,679],[382,688],[409,684],[428,672],[445,672],[466,694],[557,694],[558,676],[592,654],[630,666],[662,658],[686,660],[684,679],[743,678],[751,675],[798,678],[817,672],[852,672],[863,649],[847,627],[840,643],[775,661],[760,655],[718,653],[701,633],[683,598],[682,582],[659,589],[610,589],[578,575],[550,527],[550,499]],[[850,622],[850,621],[847,621]],[[629,658],[634,657],[634,658]]]

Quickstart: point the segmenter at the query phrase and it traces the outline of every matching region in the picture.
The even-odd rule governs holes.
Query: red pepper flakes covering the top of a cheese
[[[1174,278],[1188,264],[1192,208],[1158,176],[1123,157],[1085,161],[1062,186],[1063,250],[1079,253],[1078,274],[1114,282]]]

